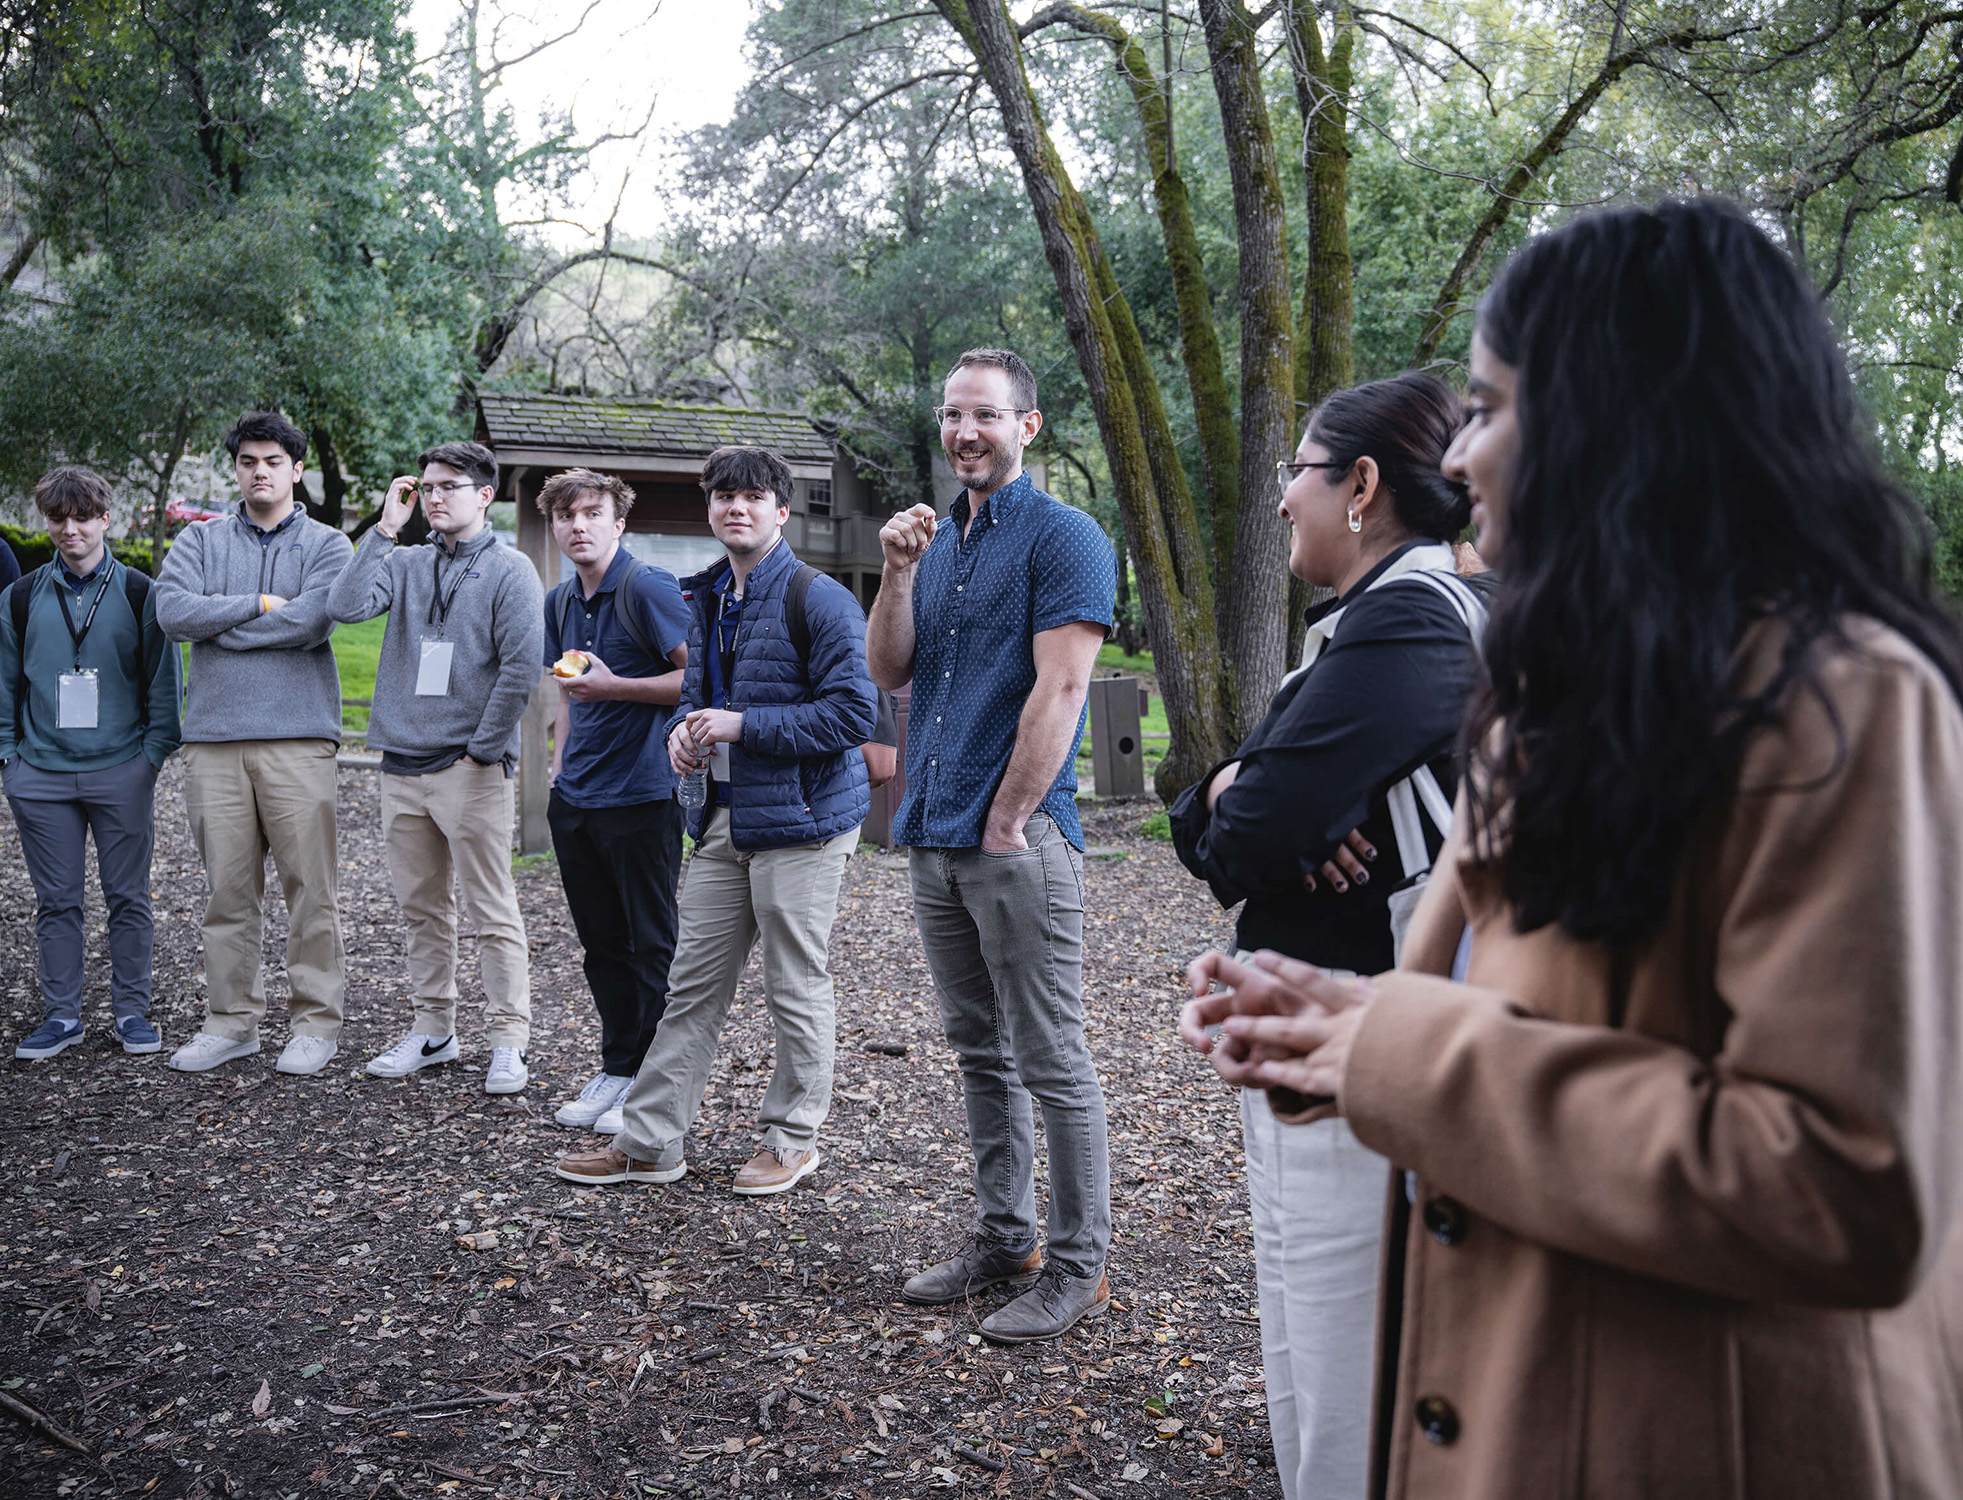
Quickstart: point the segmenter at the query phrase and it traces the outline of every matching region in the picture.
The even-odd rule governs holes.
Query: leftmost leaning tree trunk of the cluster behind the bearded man
[[[1227,670],[1213,632],[1213,585],[1192,495],[1131,304],[1036,108],[1003,0],[934,4],[976,55],[1001,106],[1003,132],[1056,279],[1064,328],[1097,414],[1125,538],[1139,562],[1139,603],[1172,730],[1154,781],[1158,795],[1170,799],[1219,760],[1225,728]],[[1142,381],[1135,379],[1141,371]]]

